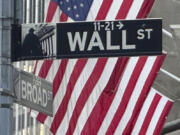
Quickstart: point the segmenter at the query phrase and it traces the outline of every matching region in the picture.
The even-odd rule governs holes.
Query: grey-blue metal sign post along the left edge
[[[11,24],[14,0],[0,0],[0,134],[13,134],[13,67],[11,65]]]

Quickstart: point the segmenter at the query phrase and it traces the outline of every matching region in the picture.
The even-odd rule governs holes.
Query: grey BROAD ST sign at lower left
[[[14,89],[17,103],[49,116],[53,115],[52,83],[15,69]]]

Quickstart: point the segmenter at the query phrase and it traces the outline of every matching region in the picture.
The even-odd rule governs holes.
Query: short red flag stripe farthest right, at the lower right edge
[[[161,113],[161,116],[158,120],[158,123],[156,124],[156,128],[154,130],[153,135],[160,135],[161,134],[161,130],[162,130],[163,125],[166,121],[166,116],[170,112],[172,105],[173,105],[173,103],[171,101],[167,101],[167,103],[163,109],[163,112]]]

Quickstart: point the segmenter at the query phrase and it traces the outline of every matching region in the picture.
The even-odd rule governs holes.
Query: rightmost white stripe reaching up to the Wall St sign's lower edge
[[[142,72],[141,72],[141,74],[137,80],[136,86],[133,90],[133,93],[131,95],[131,98],[129,100],[127,108],[124,112],[124,115],[122,116],[122,119],[121,119],[121,121],[120,121],[120,123],[119,123],[119,125],[115,131],[115,134],[122,134],[127,123],[129,122],[129,120],[132,116],[134,107],[136,105],[136,102],[137,102],[137,100],[141,94],[141,91],[142,91],[143,86],[146,82],[146,79],[148,78],[148,75],[152,70],[152,67],[154,65],[155,60],[156,60],[156,57],[154,57],[154,56],[147,58],[145,66],[143,67],[143,70],[142,70]]]

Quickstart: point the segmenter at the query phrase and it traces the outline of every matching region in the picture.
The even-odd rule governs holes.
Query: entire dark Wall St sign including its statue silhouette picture
[[[23,24],[12,33],[12,61],[162,53],[162,19]]]

